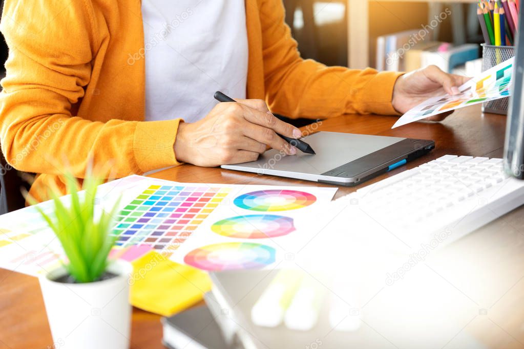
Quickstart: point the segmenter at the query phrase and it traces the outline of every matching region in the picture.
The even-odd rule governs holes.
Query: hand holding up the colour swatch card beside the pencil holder
[[[391,104],[401,114],[424,102],[424,100],[443,95],[459,94],[459,86],[470,80],[470,77],[447,74],[435,65],[429,65],[397,79],[393,88]],[[451,112],[442,113],[427,118],[426,120],[440,121]]]

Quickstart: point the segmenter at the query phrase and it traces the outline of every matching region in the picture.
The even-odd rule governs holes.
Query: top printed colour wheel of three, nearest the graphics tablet
[[[258,190],[238,196],[234,204],[252,211],[288,211],[313,204],[316,197],[312,194],[289,189]]]

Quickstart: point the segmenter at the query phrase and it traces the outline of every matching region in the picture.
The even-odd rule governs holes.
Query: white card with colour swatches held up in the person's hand
[[[402,115],[391,128],[441,114],[445,111],[508,97],[511,91],[513,61],[514,58],[511,58],[472,78],[459,87],[460,94],[454,96],[443,95],[425,100]]]

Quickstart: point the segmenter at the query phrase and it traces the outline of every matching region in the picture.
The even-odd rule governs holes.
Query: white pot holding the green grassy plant
[[[94,283],[66,284],[56,280],[63,267],[40,277],[54,348],[124,349],[129,347],[132,266],[115,261],[107,268],[116,277]]]

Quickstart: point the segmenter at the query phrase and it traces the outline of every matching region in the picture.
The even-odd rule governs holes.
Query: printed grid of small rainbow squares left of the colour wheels
[[[227,187],[150,185],[125,206],[113,234],[117,245],[176,250],[230,192]]]

